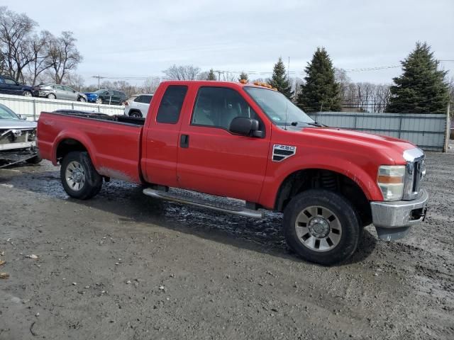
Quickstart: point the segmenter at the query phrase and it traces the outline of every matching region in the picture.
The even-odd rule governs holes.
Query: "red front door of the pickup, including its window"
[[[179,187],[258,202],[265,179],[270,127],[232,86],[194,86],[191,113],[184,115],[177,164]],[[194,100],[194,99],[193,99]],[[258,119],[264,137],[234,135],[238,116]]]

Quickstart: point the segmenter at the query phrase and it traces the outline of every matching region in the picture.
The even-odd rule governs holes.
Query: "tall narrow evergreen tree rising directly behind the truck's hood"
[[[304,111],[341,111],[340,86],[334,77],[331,58],[324,47],[317,47],[306,66],[298,103]]]

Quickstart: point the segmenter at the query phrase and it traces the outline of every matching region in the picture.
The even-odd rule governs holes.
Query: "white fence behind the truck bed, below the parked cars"
[[[55,110],[81,110],[106,113],[107,115],[123,115],[124,106],[105,105],[96,103],[82,103],[80,101],[60,101],[59,99],[12,96],[0,94],[0,103],[11,108],[20,115],[25,115],[28,120],[38,120],[41,111],[52,112]]]

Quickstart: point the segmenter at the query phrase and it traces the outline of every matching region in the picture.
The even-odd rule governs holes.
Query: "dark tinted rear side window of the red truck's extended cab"
[[[165,90],[164,96],[157,110],[157,123],[176,124],[182,111],[187,86],[170,85]]]

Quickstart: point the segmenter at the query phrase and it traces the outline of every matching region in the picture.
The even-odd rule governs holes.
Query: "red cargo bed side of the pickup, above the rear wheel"
[[[144,118],[84,111],[43,112],[38,120],[38,147],[57,165],[59,152],[77,143],[89,152],[99,174],[141,183],[140,143]]]

